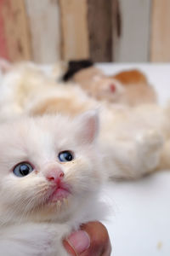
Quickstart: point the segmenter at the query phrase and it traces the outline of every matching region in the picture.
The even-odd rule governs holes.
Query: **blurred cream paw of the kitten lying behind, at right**
[[[163,137],[155,130],[145,131],[139,134],[136,139],[137,152],[141,163],[143,162],[143,172],[153,171],[159,163]]]

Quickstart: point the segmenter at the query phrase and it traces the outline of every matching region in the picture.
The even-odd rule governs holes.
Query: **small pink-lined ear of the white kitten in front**
[[[93,143],[99,131],[98,111],[88,111],[77,117],[78,140],[82,143]]]

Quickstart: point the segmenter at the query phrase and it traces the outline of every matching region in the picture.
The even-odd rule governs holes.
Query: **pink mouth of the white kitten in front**
[[[57,188],[53,189],[53,193],[48,197],[49,203],[54,203],[57,201],[63,201],[71,195],[71,189],[66,184],[59,184]]]

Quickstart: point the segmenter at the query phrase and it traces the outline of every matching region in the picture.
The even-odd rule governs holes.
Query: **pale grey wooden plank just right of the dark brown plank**
[[[113,32],[114,61],[149,60],[150,2],[119,0],[122,32],[119,36]]]

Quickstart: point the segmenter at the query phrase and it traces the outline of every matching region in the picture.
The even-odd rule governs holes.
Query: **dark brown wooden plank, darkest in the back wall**
[[[112,0],[88,0],[89,50],[93,61],[112,61]]]

